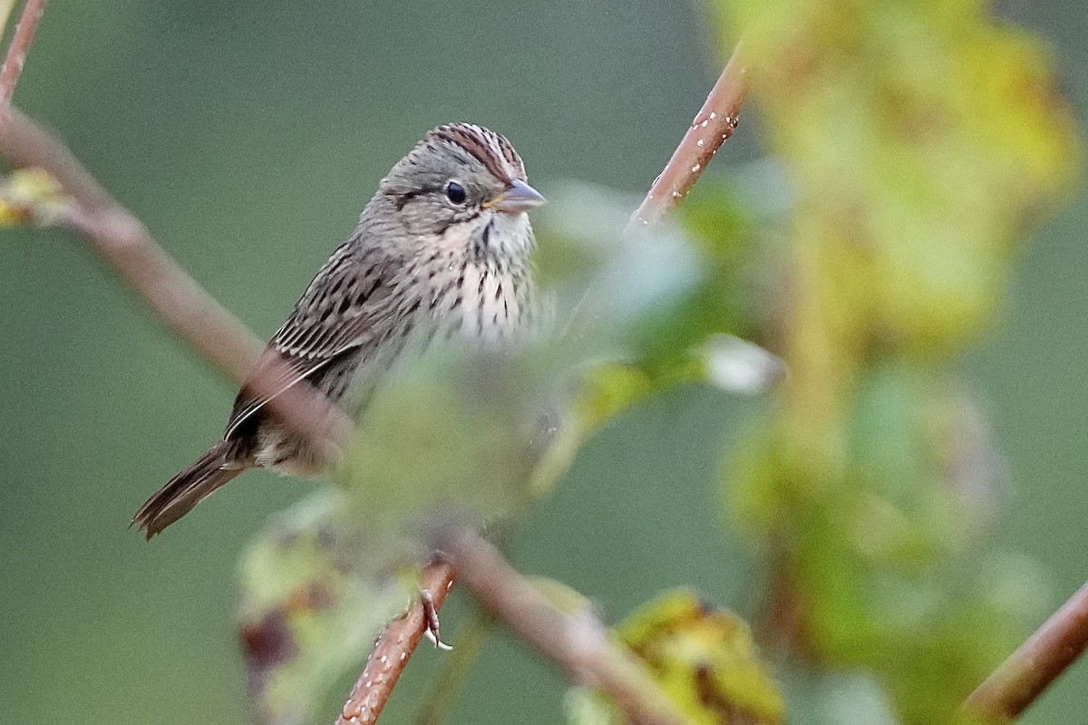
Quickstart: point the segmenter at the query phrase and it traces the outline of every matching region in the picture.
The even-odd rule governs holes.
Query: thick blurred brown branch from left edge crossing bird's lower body
[[[263,348],[249,329],[214,300],[154,241],[127,209],[119,204],[55,136],[16,109],[0,127],[0,155],[16,167],[37,166],[51,174],[67,199],[64,221],[91,242],[178,337],[237,383],[246,383]],[[258,395],[273,395],[276,363],[248,380]],[[346,439],[350,423],[323,396],[300,384],[269,403],[270,410],[329,458]]]

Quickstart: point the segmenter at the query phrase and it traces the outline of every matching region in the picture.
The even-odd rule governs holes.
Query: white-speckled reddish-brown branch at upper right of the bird
[[[665,171],[654,179],[646,198],[632,214],[628,234],[657,224],[688,196],[710,158],[737,129],[741,107],[747,97],[746,76],[747,67],[738,45]]]

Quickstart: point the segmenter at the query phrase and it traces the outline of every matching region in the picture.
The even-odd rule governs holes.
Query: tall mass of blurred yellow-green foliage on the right
[[[874,673],[904,723],[954,722],[1024,605],[974,568],[1001,466],[948,367],[1070,193],[1072,115],[1038,40],[976,2],[720,9],[793,188],[765,337],[790,372],[726,462],[730,509],[771,552],[777,637]]]

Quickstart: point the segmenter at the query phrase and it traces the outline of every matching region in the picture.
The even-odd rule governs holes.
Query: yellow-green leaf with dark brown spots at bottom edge
[[[672,702],[698,725],[781,725],[778,689],[759,661],[747,626],[690,591],[658,596],[616,629]],[[568,693],[576,725],[619,725],[622,713],[601,692]]]

